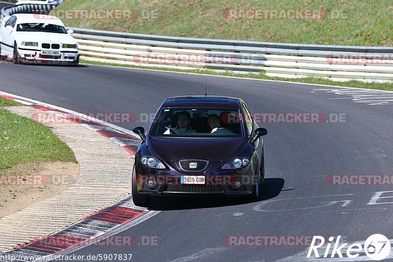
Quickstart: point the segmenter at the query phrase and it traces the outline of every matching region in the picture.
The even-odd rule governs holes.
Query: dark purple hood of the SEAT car
[[[149,152],[164,161],[180,158],[206,158],[212,162],[226,162],[242,153],[248,139],[173,139],[149,137]]]

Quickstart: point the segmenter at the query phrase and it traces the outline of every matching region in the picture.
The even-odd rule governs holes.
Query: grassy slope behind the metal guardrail
[[[158,35],[268,42],[393,46],[392,0],[67,0],[59,9],[135,9],[128,20],[63,19],[66,26]],[[229,9],[324,9],[319,20],[240,19]],[[154,18],[142,10],[157,10]],[[336,18],[334,14],[342,14]]]

